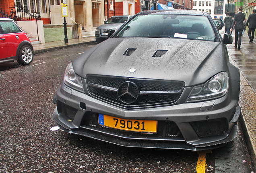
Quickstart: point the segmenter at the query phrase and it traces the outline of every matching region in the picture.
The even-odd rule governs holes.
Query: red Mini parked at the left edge
[[[29,37],[9,18],[0,18],[0,63],[17,60],[28,65],[33,60],[33,46]]]

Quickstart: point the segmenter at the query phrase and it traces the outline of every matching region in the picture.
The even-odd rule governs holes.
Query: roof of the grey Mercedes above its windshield
[[[206,12],[200,12],[196,10],[148,10],[142,11],[140,14],[185,14],[185,15],[196,15],[196,16],[209,16]]]

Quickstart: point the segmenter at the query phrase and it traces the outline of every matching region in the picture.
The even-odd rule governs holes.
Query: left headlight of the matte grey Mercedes
[[[81,77],[76,75],[76,73],[74,72],[72,62],[70,62],[70,64],[68,64],[68,66],[66,67],[63,81],[64,81],[64,84],[66,84],[68,87],[75,89],[77,91],[80,91],[82,93],[85,93],[83,89]]]

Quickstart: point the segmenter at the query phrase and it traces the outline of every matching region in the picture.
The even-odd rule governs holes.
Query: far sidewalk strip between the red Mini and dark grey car
[[[96,43],[95,36],[69,39],[68,43],[65,43],[64,40],[62,40],[62,41],[55,41],[55,42],[33,44],[33,48],[34,48],[34,54],[38,54],[42,52],[61,49],[64,47],[67,48],[71,46],[78,46],[82,44],[91,44],[91,43]]]

